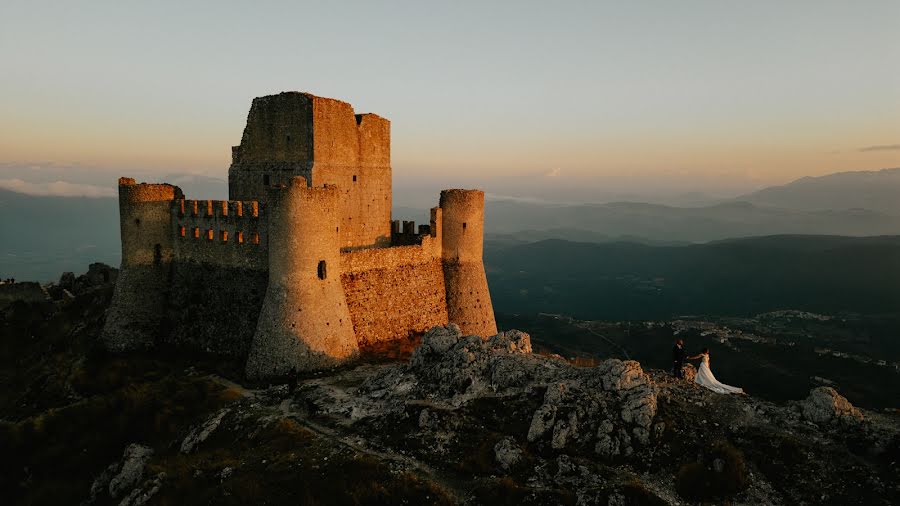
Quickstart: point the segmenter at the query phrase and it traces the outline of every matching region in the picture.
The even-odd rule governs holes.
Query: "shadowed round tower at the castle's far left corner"
[[[122,266],[102,339],[111,351],[149,348],[165,313],[173,255],[172,202],[177,186],[119,179]]]

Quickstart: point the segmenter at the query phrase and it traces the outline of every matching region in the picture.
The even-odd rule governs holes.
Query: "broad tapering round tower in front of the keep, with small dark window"
[[[247,360],[252,378],[322,369],[359,348],[340,273],[338,189],[294,177],[271,190],[269,286]]]

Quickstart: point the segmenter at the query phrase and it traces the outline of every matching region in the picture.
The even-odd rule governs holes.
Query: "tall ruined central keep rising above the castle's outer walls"
[[[254,99],[232,150],[229,198],[265,202],[266,189],[303,177],[339,188],[340,245],[390,242],[390,122],[307,93]]]

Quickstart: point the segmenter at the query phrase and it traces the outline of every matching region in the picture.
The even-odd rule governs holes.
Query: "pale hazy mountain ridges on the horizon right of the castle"
[[[703,206],[488,199],[485,214],[488,234],[522,241],[671,244],[777,234],[892,235],[900,234],[900,169],[802,178]],[[427,213],[398,208],[395,216],[422,221]]]

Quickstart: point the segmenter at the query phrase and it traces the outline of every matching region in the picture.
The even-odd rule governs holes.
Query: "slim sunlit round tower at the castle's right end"
[[[484,192],[441,192],[442,256],[447,314],[465,334],[497,333],[494,307],[484,273]]]

